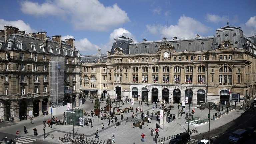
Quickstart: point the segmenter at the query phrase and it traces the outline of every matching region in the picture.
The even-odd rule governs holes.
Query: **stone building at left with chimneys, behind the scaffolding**
[[[0,30],[0,116],[14,122],[42,115],[49,107],[49,63],[51,57],[65,57],[64,85],[73,82],[75,90],[67,91],[71,102],[73,94],[77,105],[82,93],[81,58],[74,39],[61,40],[60,35],[46,36],[46,32],[26,34],[12,26]],[[75,81],[74,81],[75,80]],[[70,84],[72,85],[72,84]],[[63,99],[62,105],[66,104]]]

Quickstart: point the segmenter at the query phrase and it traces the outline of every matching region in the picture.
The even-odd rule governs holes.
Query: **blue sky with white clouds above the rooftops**
[[[123,32],[134,42],[214,36],[228,20],[253,36],[255,7],[255,0],[3,0],[0,29],[75,38],[80,54],[106,54]]]

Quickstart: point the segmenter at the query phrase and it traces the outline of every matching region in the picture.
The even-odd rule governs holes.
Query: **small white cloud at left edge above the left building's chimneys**
[[[32,29],[30,25],[28,23],[25,23],[23,20],[6,21],[4,19],[0,19],[0,29],[4,29],[5,25],[19,28],[20,31],[26,31],[26,33],[35,32],[35,30]]]

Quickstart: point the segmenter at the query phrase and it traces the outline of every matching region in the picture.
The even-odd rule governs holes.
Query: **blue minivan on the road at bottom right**
[[[232,132],[228,138],[229,143],[242,143],[248,138],[247,130],[238,129]]]

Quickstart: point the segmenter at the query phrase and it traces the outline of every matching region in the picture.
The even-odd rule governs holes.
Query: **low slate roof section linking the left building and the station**
[[[106,63],[107,62],[107,54],[81,56],[82,63],[97,63],[98,59],[100,62]]]

